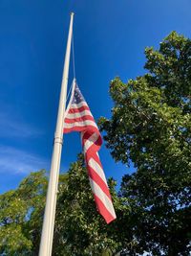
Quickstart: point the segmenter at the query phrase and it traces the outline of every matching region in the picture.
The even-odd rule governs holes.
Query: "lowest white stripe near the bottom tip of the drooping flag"
[[[101,188],[96,184],[96,182],[91,177],[89,177],[89,179],[93,193],[96,195],[97,198],[99,198],[102,201],[108,212],[110,212],[110,214],[115,219],[116,213],[111,199],[108,198],[107,195],[105,195],[105,193],[101,190]]]

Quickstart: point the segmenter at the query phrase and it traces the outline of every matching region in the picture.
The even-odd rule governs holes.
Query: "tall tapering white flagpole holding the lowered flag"
[[[69,76],[69,64],[70,64],[70,54],[71,54],[71,41],[73,35],[73,19],[74,12],[71,13],[71,21],[68,35],[68,42],[65,55],[65,63],[61,84],[61,92],[59,99],[59,108],[57,114],[57,123],[54,134],[53,142],[53,156],[51,165],[51,174],[47,192],[47,200],[45,207],[45,214],[43,220],[41,241],[39,256],[51,256],[53,248],[53,227],[55,219],[55,206],[56,206],[56,196],[57,196],[57,185],[60,169],[60,158],[63,144],[63,125],[64,125],[64,112],[66,107],[66,95],[67,95],[67,85]]]

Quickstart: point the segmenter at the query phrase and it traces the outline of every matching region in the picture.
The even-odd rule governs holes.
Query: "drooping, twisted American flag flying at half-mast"
[[[64,118],[64,133],[71,131],[81,132],[85,161],[97,210],[107,223],[114,221],[117,217],[97,152],[102,144],[101,136],[90,108],[75,80]]]

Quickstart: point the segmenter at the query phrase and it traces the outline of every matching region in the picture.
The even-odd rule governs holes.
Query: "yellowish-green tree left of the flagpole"
[[[0,254],[37,255],[46,189],[47,177],[40,171],[0,195]]]

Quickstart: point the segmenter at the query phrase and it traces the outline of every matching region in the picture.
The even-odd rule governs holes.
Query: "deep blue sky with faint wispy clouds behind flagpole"
[[[112,79],[146,72],[145,46],[158,47],[173,30],[191,37],[190,0],[1,0],[0,193],[50,169],[72,11],[76,78],[96,119],[111,115]],[[69,85],[72,79],[71,71]],[[78,135],[67,134],[62,172],[79,151]],[[115,164],[104,146],[100,157],[107,177],[119,181],[133,171]]]

